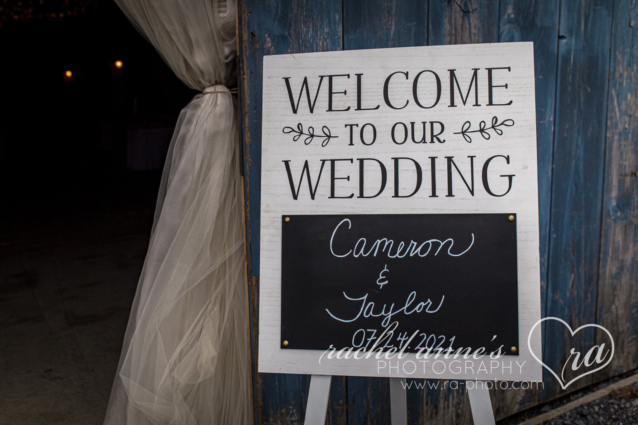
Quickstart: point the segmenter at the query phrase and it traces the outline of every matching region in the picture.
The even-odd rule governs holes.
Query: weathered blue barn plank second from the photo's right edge
[[[574,329],[596,320],[611,18],[610,1],[561,2],[546,314]],[[593,330],[572,338],[548,322],[545,363],[556,370],[593,341]],[[590,383],[591,375],[568,391]],[[545,398],[561,393],[547,377]]]

